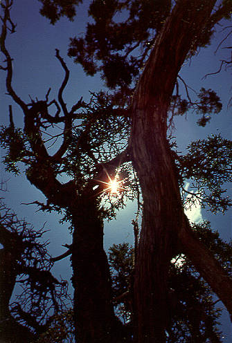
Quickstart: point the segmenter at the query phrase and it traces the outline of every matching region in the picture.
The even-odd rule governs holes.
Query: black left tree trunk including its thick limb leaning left
[[[81,343],[121,342],[123,325],[114,315],[111,302],[111,277],[103,248],[102,211],[93,185],[80,194],[74,181],[62,185],[51,167],[30,169],[31,183],[53,203],[69,213],[73,224],[71,262],[74,288],[75,341]],[[120,338],[118,338],[120,337]]]

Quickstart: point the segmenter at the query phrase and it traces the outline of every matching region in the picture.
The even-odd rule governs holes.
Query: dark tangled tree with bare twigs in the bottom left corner
[[[48,243],[39,242],[44,230],[33,230],[2,202],[0,210],[0,339],[29,343],[66,309],[67,284],[51,273]],[[22,290],[10,304],[17,283]]]

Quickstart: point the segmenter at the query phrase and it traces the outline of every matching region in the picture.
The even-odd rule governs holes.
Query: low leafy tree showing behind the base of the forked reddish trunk
[[[211,230],[208,222],[193,225],[193,230],[231,275],[231,242],[224,243],[218,232]],[[132,331],[134,248],[128,243],[112,245],[109,248],[109,264],[116,310],[128,330]],[[168,343],[222,342],[222,335],[217,328],[220,316],[218,301],[184,254],[179,254],[170,263],[168,296],[172,314],[166,328]]]

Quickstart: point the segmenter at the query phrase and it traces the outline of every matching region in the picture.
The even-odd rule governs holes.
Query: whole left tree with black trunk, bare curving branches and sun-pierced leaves
[[[73,243],[69,252],[76,342],[121,342],[125,333],[111,303],[111,278],[103,249],[103,219],[114,216],[114,209],[123,206],[130,174],[127,172],[127,180],[120,181],[120,196],[111,194],[111,181],[125,176],[123,168],[119,167],[128,162],[127,149],[121,141],[127,137],[129,121],[127,116],[117,116],[109,97],[101,92],[92,94],[89,103],[80,98],[68,109],[63,93],[69,81],[69,69],[59,50],[55,56],[64,70],[64,80],[57,100],[48,100],[50,89],[44,100],[31,99],[29,104],[21,100],[12,86],[12,58],[6,48],[8,32],[15,32],[15,24],[10,19],[11,6],[12,1],[1,3],[1,52],[6,57],[6,67],[1,69],[6,71],[8,93],[23,112],[24,130],[15,128],[10,107],[10,125],[1,130],[1,144],[7,149],[5,163],[7,169],[16,174],[19,172],[17,163],[24,163],[28,180],[47,199],[46,204],[35,203],[48,212],[63,211],[63,220],[71,223]],[[49,113],[53,109],[55,115]],[[53,126],[57,123],[63,125],[61,134],[57,134]],[[116,139],[120,143],[116,144]],[[57,140],[58,148],[54,152]],[[69,177],[66,183],[58,178],[64,173]],[[101,205],[106,198],[109,199],[108,209]]]

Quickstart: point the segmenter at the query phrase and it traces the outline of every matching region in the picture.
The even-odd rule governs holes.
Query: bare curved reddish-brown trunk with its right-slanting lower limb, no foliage
[[[177,1],[157,37],[132,101],[130,149],[144,201],[134,283],[138,342],[166,342],[170,316],[168,267],[181,245],[232,310],[231,280],[190,232],[181,205],[175,160],[166,138],[168,106],[179,69],[209,20],[214,4],[215,0]],[[206,261],[199,258],[201,252],[208,257]],[[213,287],[216,270],[220,270],[220,281]],[[222,280],[225,292],[218,286]],[[222,293],[226,293],[224,297]]]

